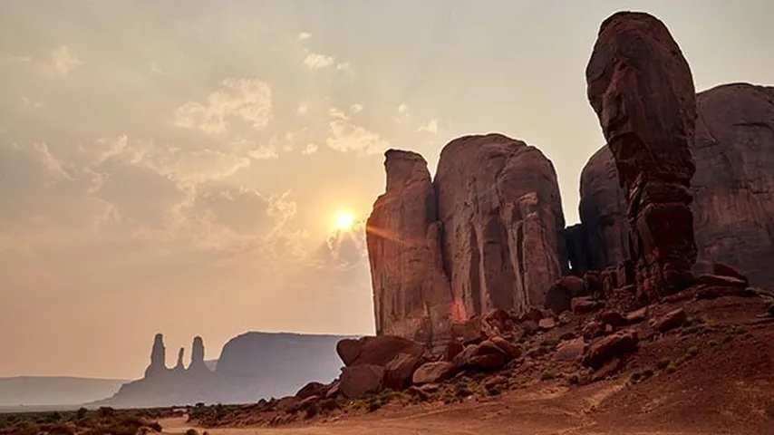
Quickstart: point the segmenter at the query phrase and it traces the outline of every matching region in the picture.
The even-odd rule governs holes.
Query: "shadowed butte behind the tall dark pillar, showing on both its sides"
[[[774,280],[768,266],[774,264],[774,88],[724,84],[696,100],[696,268],[709,272],[719,261],[738,268],[750,284],[767,285]],[[580,192],[588,268],[615,266],[628,255],[626,203],[607,147],[586,164]]]

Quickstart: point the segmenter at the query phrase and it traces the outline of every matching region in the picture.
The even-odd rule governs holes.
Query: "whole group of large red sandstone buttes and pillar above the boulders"
[[[419,154],[385,153],[367,222],[377,335],[440,349],[497,309],[559,314],[579,295],[632,309],[722,263],[774,278],[774,89],[697,95],[666,26],[628,12],[601,25],[586,80],[607,144],[572,227],[551,161],[523,141],[451,140],[435,179]]]

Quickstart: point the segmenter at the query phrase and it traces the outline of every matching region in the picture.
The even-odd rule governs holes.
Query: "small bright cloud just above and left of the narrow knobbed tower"
[[[390,144],[379,133],[354,124],[343,111],[332,109],[330,117],[329,134],[325,140],[329,148],[363,154],[378,154],[390,148]]]

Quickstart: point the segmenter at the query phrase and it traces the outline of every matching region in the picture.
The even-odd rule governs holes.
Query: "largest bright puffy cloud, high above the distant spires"
[[[256,78],[229,78],[221,82],[221,89],[208,95],[206,102],[186,102],[175,109],[172,120],[180,128],[209,135],[226,133],[233,120],[260,130],[272,120],[271,89]]]

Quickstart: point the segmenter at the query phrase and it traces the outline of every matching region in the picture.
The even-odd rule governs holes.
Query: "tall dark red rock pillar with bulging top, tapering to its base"
[[[621,12],[601,25],[586,68],[588,98],[627,192],[637,284],[649,300],[689,285],[693,239],[691,69],[666,26]]]

